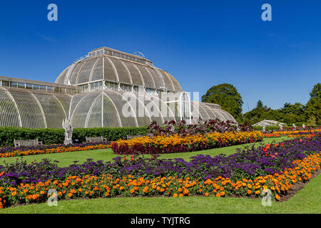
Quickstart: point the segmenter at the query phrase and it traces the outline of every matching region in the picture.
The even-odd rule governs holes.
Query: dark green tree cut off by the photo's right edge
[[[321,125],[321,83],[317,83],[313,86],[305,113],[309,123]]]

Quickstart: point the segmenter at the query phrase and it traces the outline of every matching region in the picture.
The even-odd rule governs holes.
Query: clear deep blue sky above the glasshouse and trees
[[[58,6],[48,21],[47,6]],[[262,21],[261,6],[272,6]],[[185,91],[231,83],[243,112],[307,103],[321,78],[320,1],[1,1],[0,75],[54,82],[108,46],[170,72]]]

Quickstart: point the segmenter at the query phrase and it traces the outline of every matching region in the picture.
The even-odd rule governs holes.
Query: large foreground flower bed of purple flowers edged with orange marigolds
[[[133,156],[114,162],[87,162],[57,167],[49,161],[0,166],[0,207],[46,202],[54,189],[58,199],[81,197],[229,195],[275,199],[296,182],[307,182],[320,170],[321,138],[297,138],[233,155],[198,155],[190,162]]]

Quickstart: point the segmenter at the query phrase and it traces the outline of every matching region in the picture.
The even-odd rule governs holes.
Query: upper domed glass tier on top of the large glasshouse
[[[111,81],[168,92],[182,91],[170,73],[153,66],[147,58],[106,47],[97,48],[80,58],[56,79],[56,83],[74,86],[93,81]]]

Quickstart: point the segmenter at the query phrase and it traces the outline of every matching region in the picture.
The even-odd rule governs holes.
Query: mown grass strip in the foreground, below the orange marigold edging
[[[48,204],[30,204],[0,209],[1,213],[125,213],[125,214],[219,214],[219,213],[321,213],[321,175],[312,179],[286,202],[263,206],[260,199],[216,197],[117,197],[110,199],[76,199]]]

